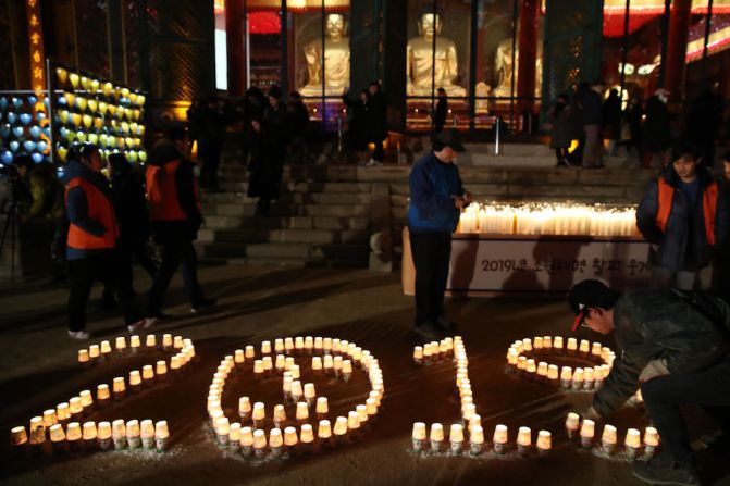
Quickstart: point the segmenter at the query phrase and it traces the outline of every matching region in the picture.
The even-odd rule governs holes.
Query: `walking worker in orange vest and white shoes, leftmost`
[[[106,162],[92,144],[72,146],[69,165],[64,171],[65,199],[69,212],[66,260],[71,275],[69,296],[69,336],[88,339],[86,303],[95,281],[116,289],[124,319],[131,332],[150,323],[143,319],[134,303],[132,283],[120,279],[119,259],[115,258],[120,235],[109,184],[100,173]]]

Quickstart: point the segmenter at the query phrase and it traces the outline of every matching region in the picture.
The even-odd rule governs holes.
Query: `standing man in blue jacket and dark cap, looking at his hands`
[[[472,201],[454,164],[456,152],[462,151],[457,130],[438,134],[433,152],[416,162],[408,179],[408,229],[416,266],[415,331],[429,339],[454,328],[444,317],[451,233],[459,223],[461,208]]]

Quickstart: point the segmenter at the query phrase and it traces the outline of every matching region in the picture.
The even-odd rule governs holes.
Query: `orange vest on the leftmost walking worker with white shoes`
[[[69,191],[81,187],[86,196],[86,205],[88,217],[98,221],[107,229],[101,236],[94,236],[81,227],[71,223],[69,226],[69,236],[66,245],[70,248],[78,250],[103,250],[114,248],[116,238],[120,235],[120,227],[116,224],[116,215],[111,200],[94,184],[82,177],[74,177],[66,185],[66,205],[69,204]]]

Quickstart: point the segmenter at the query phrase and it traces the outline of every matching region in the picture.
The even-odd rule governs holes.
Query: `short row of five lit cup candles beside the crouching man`
[[[576,440],[580,438],[581,447],[591,449],[595,446],[596,424],[590,419],[581,421],[578,413],[570,412],[566,419],[566,431],[568,438]],[[618,448],[618,431],[614,425],[604,425],[601,435],[601,451],[609,456],[617,452]],[[646,427],[644,431],[644,456],[651,458],[655,454],[656,448],[659,447],[659,434],[654,427]],[[642,436],[638,428],[629,428],[623,440],[623,451],[628,459],[636,459],[641,454]]]

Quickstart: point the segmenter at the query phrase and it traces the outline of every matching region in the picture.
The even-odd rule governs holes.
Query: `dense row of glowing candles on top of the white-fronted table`
[[[636,208],[578,203],[471,204],[457,233],[638,236]]]

